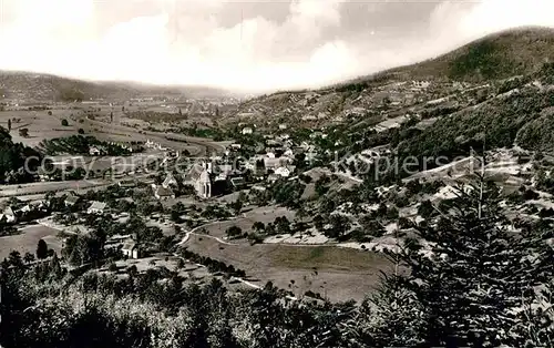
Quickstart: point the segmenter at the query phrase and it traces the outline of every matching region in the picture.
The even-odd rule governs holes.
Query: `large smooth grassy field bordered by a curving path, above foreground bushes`
[[[199,235],[191,235],[184,246],[244,269],[258,279],[255,284],[273,282],[296,296],[311,289],[332,301],[362,300],[375,288],[380,272],[392,266],[381,255],[334,246],[223,245]]]

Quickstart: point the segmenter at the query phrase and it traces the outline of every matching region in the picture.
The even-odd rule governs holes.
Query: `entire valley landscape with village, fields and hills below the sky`
[[[90,301],[152,337],[220,324],[252,347],[274,328],[287,347],[398,344],[443,311],[491,342],[544,342],[553,326],[530,318],[553,318],[552,48],[553,30],[515,29],[250,99],[4,72],[9,296],[54,294],[66,313],[50,320]]]

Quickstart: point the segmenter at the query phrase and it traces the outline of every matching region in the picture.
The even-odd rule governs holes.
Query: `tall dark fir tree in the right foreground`
[[[500,190],[484,177],[456,196],[438,221],[417,227],[427,249],[412,240],[399,255],[409,269],[403,286],[423,306],[422,337],[432,346],[514,344],[516,309],[553,275],[545,243],[509,231]]]

